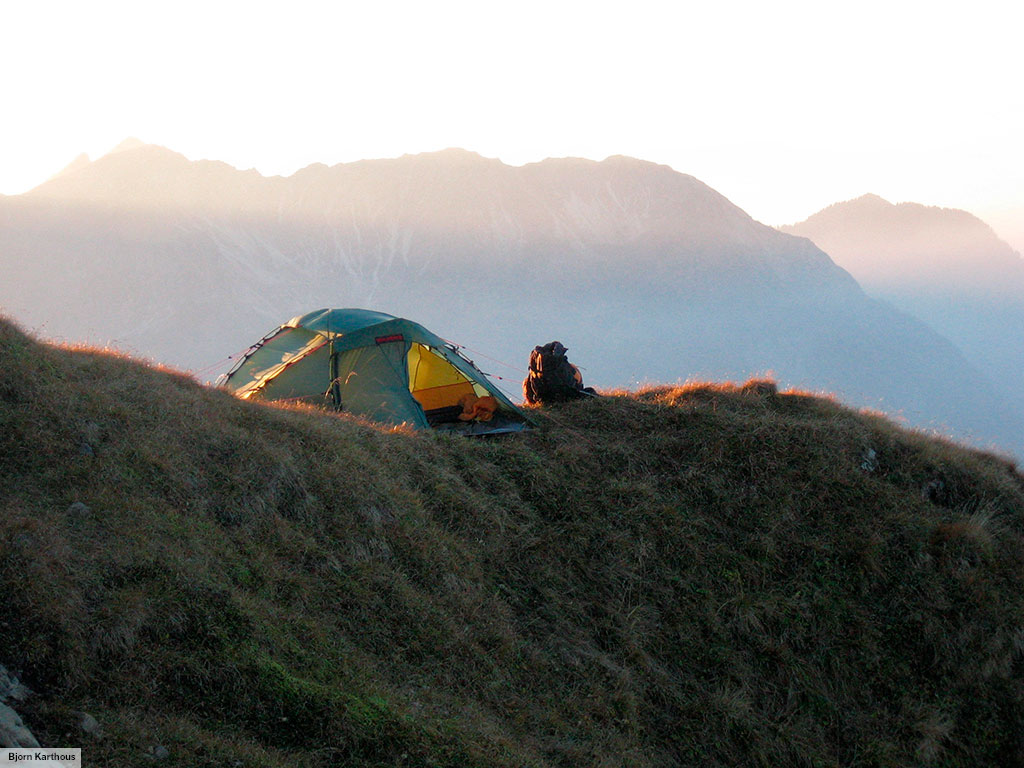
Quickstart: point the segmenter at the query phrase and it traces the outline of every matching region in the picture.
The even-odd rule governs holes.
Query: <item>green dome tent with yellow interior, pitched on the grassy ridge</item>
[[[457,348],[419,324],[369,309],[317,309],[256,342],[218,382],[245,399],[327,404],[389,424],[493,434],[526,417]],[[459,420],[467,394],[490,421]]]

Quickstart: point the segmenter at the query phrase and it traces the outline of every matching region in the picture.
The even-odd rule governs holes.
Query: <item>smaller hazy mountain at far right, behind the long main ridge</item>
[[[1024,259],[980,219],[869,195],[783,229],[813,240],[1009,391],[1024,388]]]

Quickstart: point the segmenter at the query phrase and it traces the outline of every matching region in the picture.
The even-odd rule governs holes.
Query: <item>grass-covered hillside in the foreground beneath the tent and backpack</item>
[[[1013,466],[757,385],[536,418],[382,430],[0,323],[27,724],[97,766],[1024,761]]]

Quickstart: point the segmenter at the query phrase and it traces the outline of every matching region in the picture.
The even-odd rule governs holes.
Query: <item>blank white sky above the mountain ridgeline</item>
[[[1024,251],[1024,5],[0,4],[0,193],[128,136],[264,174],[630,155],[782,224],[871,191]]]

